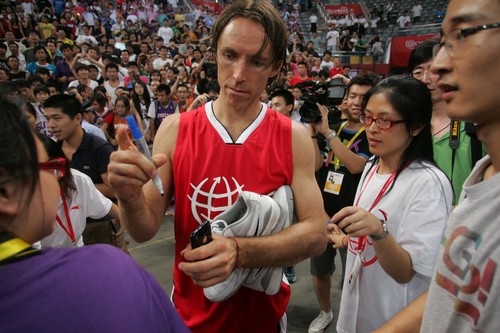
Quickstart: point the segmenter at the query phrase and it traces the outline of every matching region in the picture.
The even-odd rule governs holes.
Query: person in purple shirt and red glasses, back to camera
[[[66,169],[15,102],[0,105],[0,330],[189,332],[154,277],[119,249],[31,246],[53,232]]]

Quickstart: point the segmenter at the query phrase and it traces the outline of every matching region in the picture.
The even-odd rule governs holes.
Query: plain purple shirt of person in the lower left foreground
[[[2,332],[189,332],[154,277],[109,245],[0,266]]]

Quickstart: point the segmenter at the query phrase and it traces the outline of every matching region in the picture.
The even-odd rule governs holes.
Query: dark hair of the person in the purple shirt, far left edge
[[[34,133],[14,98],[0,97],[0,181],[29,185],[30,199],[38,183]]]

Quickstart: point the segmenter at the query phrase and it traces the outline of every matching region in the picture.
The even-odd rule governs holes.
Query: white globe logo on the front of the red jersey
[[[193,188],[191,201],[191,213],[193,217],[202,223],[205,220],[212,221],[217,215],[231,207],[245,185],[231,177],[216,177],[210,182],[209,178],[203,179],[198,185],[190,184]]]

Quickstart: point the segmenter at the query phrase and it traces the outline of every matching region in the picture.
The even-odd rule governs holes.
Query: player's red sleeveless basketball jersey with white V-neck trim
[[[288,285],[282,283],[273,296],[242,287],[213,303],[177,265],[191,232],[230,207],[239,192],[268,194],[291,184],[291,120],[262,104],[257,119],[233,142],[208,103],[181,114],[173,167],[177,311],[195,333],[276,332],[290,298]]]

